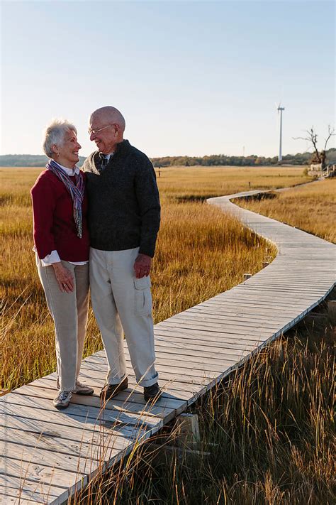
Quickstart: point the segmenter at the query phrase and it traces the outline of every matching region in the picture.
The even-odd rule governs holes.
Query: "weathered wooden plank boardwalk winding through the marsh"
[[[155,405],[145,404],[127,349],[130,387],[104,410],[99,402],[107,369],[103,352],[82,363],[81,380],[94,387],[94,396],[73,395],[65,411],[52,407],[55,373],[0,398],[0,504],[62,503],[330,293],[336,246],[240,209],[230,202],[240,195],[208,202],[276,244],[276,259],[239,286],[155,325],[164,389]]]

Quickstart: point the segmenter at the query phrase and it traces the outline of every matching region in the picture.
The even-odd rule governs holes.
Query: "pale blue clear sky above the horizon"
[[[0,49],[0,154],[42,154],[63,117],[87,156],[104,105],[150,157],[276,156],[280,101],[283,154],[335,121],[333,1],[1,0]]]

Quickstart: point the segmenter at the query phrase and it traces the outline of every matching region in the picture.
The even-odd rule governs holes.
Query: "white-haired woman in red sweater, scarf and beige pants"
[[[43,143],[50,160],[31,189],[38,275],[55,322],[56,408],[66,408],[72,393],[94,392],[78,380],[89,302],[85,175],[76,166],[80,148],[72,124],[52,121]]]

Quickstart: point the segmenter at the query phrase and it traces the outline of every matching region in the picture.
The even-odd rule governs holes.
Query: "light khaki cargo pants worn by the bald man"
[[[150,278],[135,278],[133,269],[138,251],[90,249],[91,302],[108,360],[108,384],[126,376],[123,330],[138,384],[152,386],[158,379]]]

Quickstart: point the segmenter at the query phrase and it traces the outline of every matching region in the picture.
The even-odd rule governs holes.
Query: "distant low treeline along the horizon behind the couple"
[[[336,149],[328,149],[327,163],[336,163]],[[287,154],[282,158],[282,163],[288,165],[309,165],[312,153]],[[79,165],[84,163],[85,157],[79,158]],[[225,154],[213,154],[211,156],[164,156],[162,158],[151,158],[155,167],[169,166],[263,166],[277,165],[278,157],[265,158],[264,156],[226,156]],[[46,156],[34,154],[5,154],[0,156],[0,166],[2,167],[43,167],[47,163]]]

